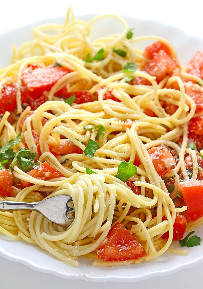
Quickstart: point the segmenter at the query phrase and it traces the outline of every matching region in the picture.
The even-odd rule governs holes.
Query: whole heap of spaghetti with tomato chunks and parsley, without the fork
[[[73,266],[186,254],[171,243],[191,247],[185,231],[203,223],[203,53],[182,67],[166,39],[133,37],[115,15],[124,31],[90,41],[102,17],[76,20],[69,8],[0,71],[0,200],[68,194],[75,206],[68,228],[0,212],[0,232]]]

